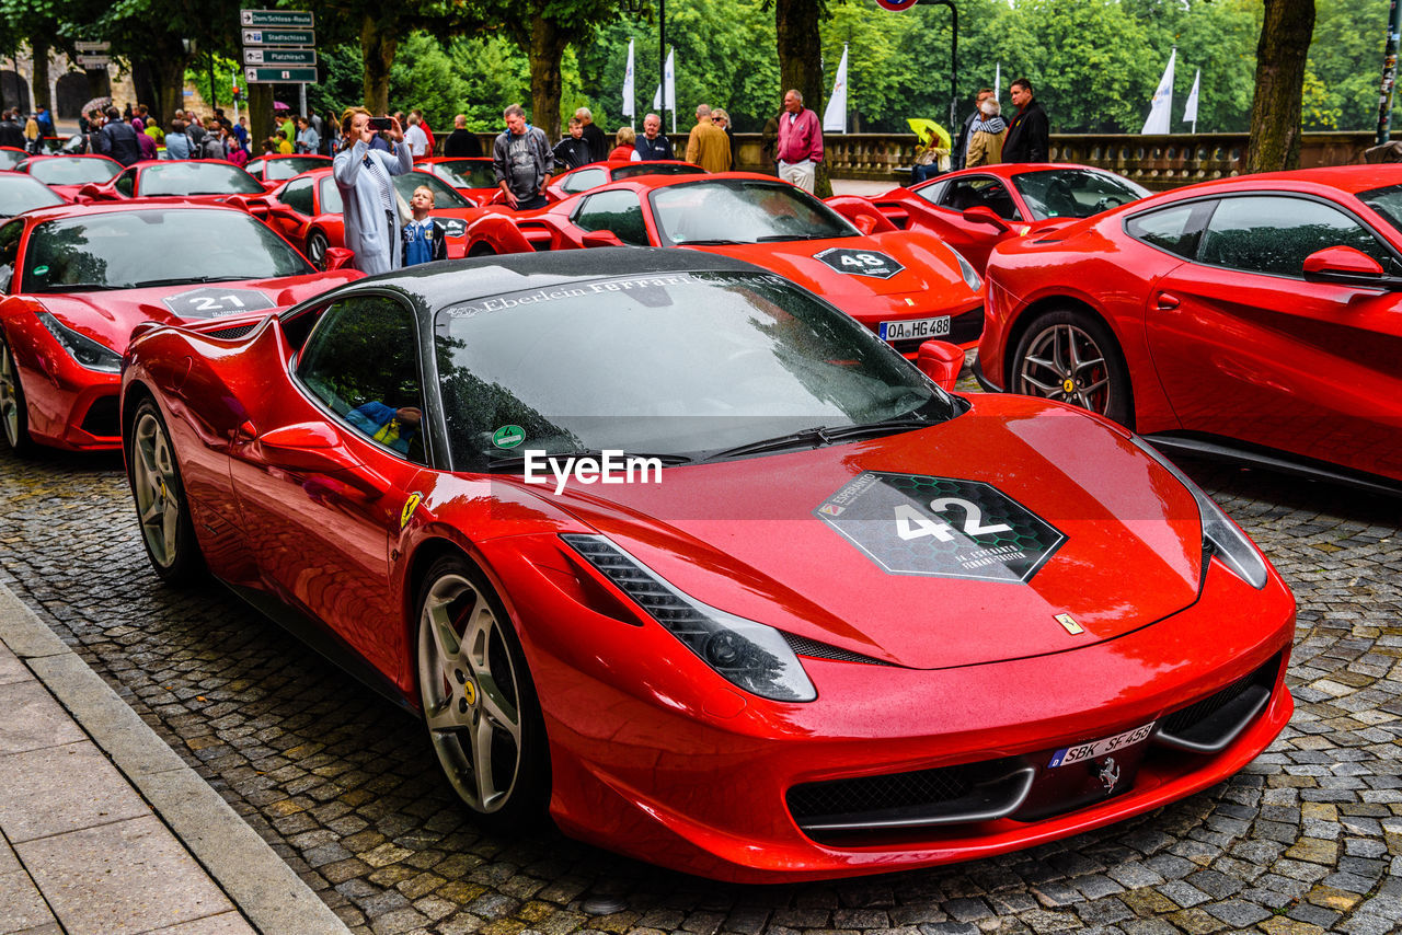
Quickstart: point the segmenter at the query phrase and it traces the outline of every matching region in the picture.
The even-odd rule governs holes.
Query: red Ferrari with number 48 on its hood
[[[979,273],[938,237],[897,231],[872,207],[850,223],[773,175],[644,175],[533,212],[482,209],[467,240],[470,257],[621,243],[747,259],[907,356],[928,338],[972,346],[983,328]]]

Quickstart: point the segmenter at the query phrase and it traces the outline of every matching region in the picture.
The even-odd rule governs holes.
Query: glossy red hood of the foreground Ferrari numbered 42
[[[1018,397],[883,439],[670,467],[660,484],[530,489],[698,600],[916,669],[1115,639],[1192,604],[1203,566],[1179,481],[1123,430]],[[935,516],[924,505],[941,498],[980,516],[949,502]],[[941,517],[952,541],[932,534]],[[1011,530],[969,537],[970,520]]]

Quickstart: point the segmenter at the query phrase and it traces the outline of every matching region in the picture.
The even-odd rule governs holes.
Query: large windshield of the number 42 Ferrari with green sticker
[[[436,315],[454,467],[524,450],[698,454],[805,429],[953,414],[851,317],[770,273],[573,280]],[[524,430],[522,450],[494,433]]]

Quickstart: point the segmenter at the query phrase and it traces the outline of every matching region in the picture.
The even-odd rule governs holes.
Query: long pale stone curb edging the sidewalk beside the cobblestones
[[[258,931],[349,932],[266,841],[4,585],[0,641],[67,708]]]

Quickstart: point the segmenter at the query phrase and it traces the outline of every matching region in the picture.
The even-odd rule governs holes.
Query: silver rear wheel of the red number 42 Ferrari
[[[195,538],[175,449],[160,409],[150,400],[136,407],[126,436],[126,479],[136,500],[142,542],[156,573],[171,586],[200,578],[205,559]]]

